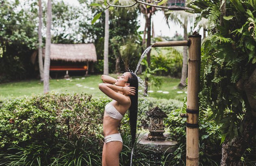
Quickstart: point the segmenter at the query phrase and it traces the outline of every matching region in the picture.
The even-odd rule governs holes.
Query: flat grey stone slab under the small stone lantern
[[[167,136],[166,134],[164,134]],[[148,134],[142,136],[140,146],[150,149],[156,153],[173,153],[176,150],[177,141],[172,140],[148,140]]]

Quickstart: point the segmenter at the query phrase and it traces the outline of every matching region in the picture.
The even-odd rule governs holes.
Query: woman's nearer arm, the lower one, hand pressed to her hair
[[[126,95],[135,95],[135,87],[120,87],[113,84],[100,83],[99,89],[106,94],[106,96],[116,100],[120,104],[129,104],[130,100],[123,94],[115,91],[123,92]]]

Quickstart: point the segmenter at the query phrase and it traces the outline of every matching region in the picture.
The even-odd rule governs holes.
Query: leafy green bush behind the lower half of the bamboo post
[[[185,100],[181,109],[172,111],[165,125],[169,126],[170,139],[177,140],[178,146],[172,154],[164,155],[163,165],[186,165],[186,118],[181,118],[180,113],[186,113]],[[215,121],[206,121],[210,111],[200,111],[199,117],[199,164],[202,166],[219,165],[221,160],[221,131]]]

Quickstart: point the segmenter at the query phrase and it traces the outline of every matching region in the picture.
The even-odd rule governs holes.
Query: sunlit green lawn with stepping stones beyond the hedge
[[[110,74],[111,77],[117,78],[116,74]],[[55,92],[74,92],[74,93],[87,93],[92,94],[93,98],[106,97],[99,89],[98,84],[102,83],[100,79],[101,75],[91,75],[87,77],[72,77],[69,79],[51,79],[50,80],[50,91]],[[141,76],[140,76],[141,77]],[[167,100],[182,100],[186,95],[184,92],[187,89],[178,89],[178,84],[180,79],[161,77],[163,80],[163,85],[157,89],[156,87],[150,87],[149,97],[153,98],[165,98]],[[143,79],[143,78],[142,78]],[[94,88],[94,89],[93,89]],[[169,92],[168,94],[163,94],[162,92],[157,92],[161,90],[163,92]],[[177,93],[180,91],[180,94]],[[29,80],[29,81],[19,81],[12,83],[2,83],[0,84],[0,100],[9,99],[13,97],[20,96],[31,96],[32,94],[42,94],[43,93],[43,83],[39,80]],[[181,93],[182,92],[182,93]]]

